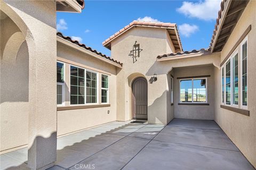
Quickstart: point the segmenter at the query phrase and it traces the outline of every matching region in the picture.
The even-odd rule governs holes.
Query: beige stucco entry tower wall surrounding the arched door
[[[129,56],[132,47],[137,41],[143,49],[137,62],[133,63]],[[145,77],[148,82],[148,122],[167,124],[167,73],[162,71],[161,64],[156,56],[170,53],[167,48],[167,33],[159,28],[132,28],[121,37],[111,42],[111,56],[124,63],[123,69],[117,71],[117,120],[127,121],[131,117],[131,82],[137,78]],[[149,83],[153,74],[157,73],[157,81]],[[172,117],[172,116],[170,116]]]

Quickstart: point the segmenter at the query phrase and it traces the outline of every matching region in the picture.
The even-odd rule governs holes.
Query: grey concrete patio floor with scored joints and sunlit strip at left
[[[63,169],[254,169],[214,121],[168,125],[111,122],[57,140]],[[28,169],[27,149],[1,155],[1,169]]]

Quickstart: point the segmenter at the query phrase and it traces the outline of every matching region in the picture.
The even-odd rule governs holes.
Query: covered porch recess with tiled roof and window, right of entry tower
[[[158,56],[157,63],[167,77],[167,117],[214,120],[220,53],[210,54],[209,49],[171,53]]]

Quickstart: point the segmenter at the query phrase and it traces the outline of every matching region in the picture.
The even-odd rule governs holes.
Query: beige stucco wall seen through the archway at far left
[[[28,143],[28,47],[17,25],[1,13],[1,153]]]

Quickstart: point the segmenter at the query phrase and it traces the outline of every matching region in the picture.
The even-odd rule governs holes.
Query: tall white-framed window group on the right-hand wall
[[[241,55],[238,55],[238,49],[236,49],[221,67],[222,104],[238,107],[240,102],[241,108],[247,108],[247,37],[239,48]],[[240,62],[238,62],[239,57]],[[238,84],[239,81],[240,84]],[[239,89],[241,94],[238,93]]]

